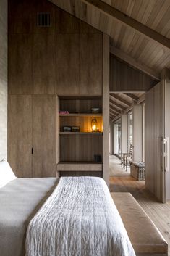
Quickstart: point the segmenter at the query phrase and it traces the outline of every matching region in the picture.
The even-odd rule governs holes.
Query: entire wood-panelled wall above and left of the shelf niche
[[[58,96],[102,96],[103,33],[47,0],[9,0],[8,46],[9,163],[18,177],[55,176]]]

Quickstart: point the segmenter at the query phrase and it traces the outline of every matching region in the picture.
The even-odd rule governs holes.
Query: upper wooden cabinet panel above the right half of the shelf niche
[[[102,35],[80,34],[80,94],[102,95]]]

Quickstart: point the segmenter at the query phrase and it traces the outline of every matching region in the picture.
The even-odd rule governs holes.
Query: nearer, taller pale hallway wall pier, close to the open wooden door
[[[133,107],[133,159],[143,160],[143,107],[141,104]]]

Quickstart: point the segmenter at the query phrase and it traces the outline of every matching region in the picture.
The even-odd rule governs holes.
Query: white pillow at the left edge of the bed
[[[10,168],[9,163],[6,160],[1,160],[0,162],[0,188],[5,186],[9,181],[13,181],[17,178],[12,168]]]

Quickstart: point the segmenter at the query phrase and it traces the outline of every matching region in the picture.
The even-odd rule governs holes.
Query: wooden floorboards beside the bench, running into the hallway
[[[135,197],[168,242],[170,256],[170,202],[158,202],[153,194],[145,189],[145,182],[135,181],[129,172],[126,173],[121,168],[117,158],[111,157],[110,173],[110,191],[130,192]]]

